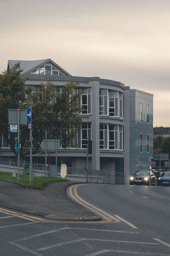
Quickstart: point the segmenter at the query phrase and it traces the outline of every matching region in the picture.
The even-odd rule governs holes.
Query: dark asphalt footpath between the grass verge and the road
[[[40,190],[0,180],[0,206],[60,221],[100,220],[66,195],[72,184],[77,182],[50,183]]]

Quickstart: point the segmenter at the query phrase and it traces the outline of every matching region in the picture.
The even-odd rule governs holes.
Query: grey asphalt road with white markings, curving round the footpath
[[[69,191],[102,221],[44,221],[0,208],[1,255],[170,255],[169,187],[81,184]]]

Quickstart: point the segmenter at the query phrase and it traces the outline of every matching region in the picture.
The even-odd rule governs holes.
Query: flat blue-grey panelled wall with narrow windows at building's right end
[[[130,89],[130,174],[148,170],[153,158],[153,94]]]

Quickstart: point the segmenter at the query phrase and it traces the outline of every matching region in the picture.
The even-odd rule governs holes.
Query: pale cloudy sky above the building
[[[153,93],[154,126],[170,126],[170,0],[0,0],[0,72],[48,58]]]

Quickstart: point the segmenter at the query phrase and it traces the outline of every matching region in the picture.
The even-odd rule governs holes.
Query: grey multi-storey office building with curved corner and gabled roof
[[[8,61],[8,69],[17,62]],[[131,172],[149,169],[153,155],[153,95],[131,90],[114,80],[71,76],[51,59],[20,63],[23,69],[21,77],[29,75],[26,88],[32,87],[32,93],[36,93],[40,83],[47,84],[49,80],[53,82],[56,93],[60,93],[71,80],[79,82],[78,89],[83,91],[78,113],[82,126],[74,138],[78,146],[61,148],[58,152],[60,164],[84,168],[88,135],[92,140],[92,154],[89,155],[92,169],[125,173],[127,182]],[[12,155],[2,135],[0,156]],[[40,161],[42,156],[36,154],[33,161],[37,158]],[[55,161],[55,157],[50,158]]]

